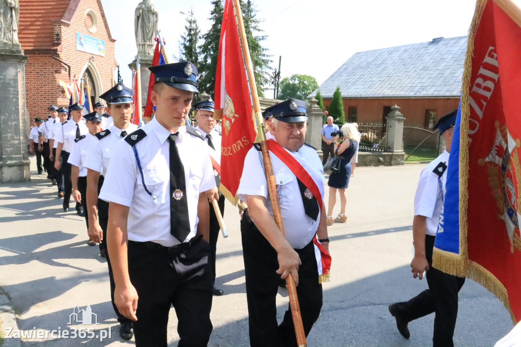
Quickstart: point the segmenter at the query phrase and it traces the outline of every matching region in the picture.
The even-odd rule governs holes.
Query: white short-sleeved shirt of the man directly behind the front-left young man
[[[127,134],[130,134],[136,129],[138,129],[138,126],[130,123],[125,131]],[[110,133],[101,140],[95,137],[96,140],[91,142],[89,154],[85,158],[84,163],[86,168],[100,172],[100,174],[103,176],[107,174],[108,164],[110,162],[110,158],[114,154],[113,150],[116,143],[123,139],[121,137],[122,130],[119,128],[110,127],[109,130],[101,131],[100,135],[103,135],[106,131],[110,131]]]

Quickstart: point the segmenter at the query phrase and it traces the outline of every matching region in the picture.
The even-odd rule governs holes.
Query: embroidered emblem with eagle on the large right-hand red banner
[[[496,206],[499,208],[497,217],[503,219],[511,244],[521,251],[521,237],[519,222],[521,221],[521,165],[519,163],[519,147],[521,142],[514,139],[508,132],[506,125],[496,127],[495,141],[485,159],[479,159],[478,165],[487,165],[489,187],[492,190]]]

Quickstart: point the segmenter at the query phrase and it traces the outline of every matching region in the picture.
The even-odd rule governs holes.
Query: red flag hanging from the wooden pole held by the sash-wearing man
[[[221,192],[232,204],[244,166],[244,157],[255,140],[255,125],[246,70],[233,4],[226,0],[222,17],[215,79],[215,112],[222,118]]]

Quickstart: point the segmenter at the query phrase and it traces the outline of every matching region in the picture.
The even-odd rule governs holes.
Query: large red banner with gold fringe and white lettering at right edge
[[[433,266],[481,283],[521,321],[521,10],[508,0],[479,0],[468,40],[459,254],[439,252]]]

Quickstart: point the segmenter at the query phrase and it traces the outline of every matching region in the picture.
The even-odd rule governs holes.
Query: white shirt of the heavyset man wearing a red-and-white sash
[[[313,178],[313,181],[315,181],[320,190],[322,199],[324,199],[324,168],[322,167],[322,162],[320,162],[317,151],[306,145],[302,146],[298,152],[285,151],[290,153],[293,158],[304,167],[307,173],[309,173],[309,176]],[[273,215],[268,184],[261,166],[262,158],[259,158],[259,153],[260,152],[253,147],[246,154],[237,196],[243,201],[246,201],[245,195],[264,196],[266,198],[266,207],[269,213]],[[296,176],[275,154],[271,151],[269,153],[273,173],[275,175],[275,182],[277,184],[280,212],[282,214],[286,239],[294,249],[301,249],[313,239],[318,228],[318,222],[320,221],[320,214],[318,214],[316,220],[306,215],[304,204],[302,203],[302,193]],[[316,198],[317,200],[319,199],[318,197]],[[318,203],[322,204],[323,201],[319,201]]]

